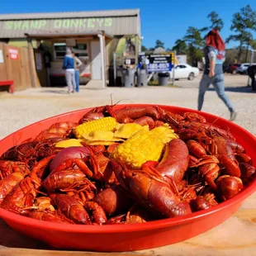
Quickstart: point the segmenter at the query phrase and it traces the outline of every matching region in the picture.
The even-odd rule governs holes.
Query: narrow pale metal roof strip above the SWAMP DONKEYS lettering
[[[0,21],[83,18],[83,17],[130,17],[130,16],[140,16],[140,9],[93,11],[93,12],[40,12],[40,13],[0,14]]]

